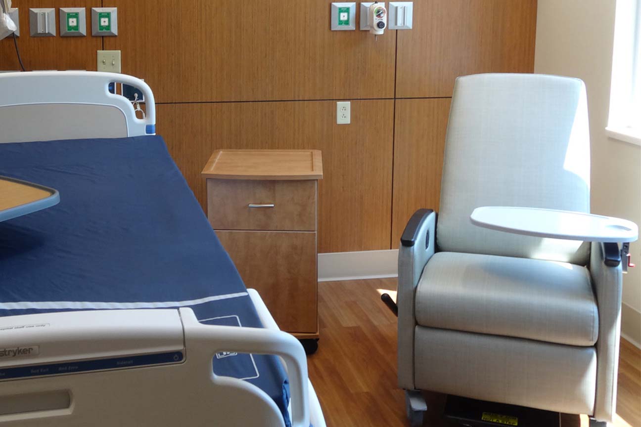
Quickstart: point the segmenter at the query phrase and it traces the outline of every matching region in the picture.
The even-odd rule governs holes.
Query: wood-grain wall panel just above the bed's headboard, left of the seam
[[[29,8],[56,8],[56,25],[59,25],[56,0],[13,0],[12,6],[20,10],[20,34],[18,46],[22,63],[27,70],[96,70],[96,51],[102,49],[101,37],[61,37],[56,27],[55,37],[31,37],[29,35]],[[100,0],[65,0],[63,7],[90,8],[100,6]],[[87,33],[91,34],[88,19]],[[0,40],[0,70],[20,70],[15,54],[13,37]]]

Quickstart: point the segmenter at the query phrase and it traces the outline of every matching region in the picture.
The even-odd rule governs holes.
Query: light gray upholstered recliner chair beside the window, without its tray
[[[417,389],[612,420],[617,245],[519,236],[469,220],[485,205],[589,212],[589,153],[581,80],[456,80],[440,213],[417,211],[399,251],[398,378],[414,422],[425,407]]]

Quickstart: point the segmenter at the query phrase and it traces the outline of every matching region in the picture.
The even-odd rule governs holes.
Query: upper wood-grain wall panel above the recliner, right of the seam
[[[533,72],[536,0],[414,2],[413,29],[398,31],[396,97],[451,97],[454,79]]]

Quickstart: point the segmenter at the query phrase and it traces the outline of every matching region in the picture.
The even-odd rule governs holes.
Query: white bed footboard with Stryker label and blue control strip
[[[283,427],[265,391],[213,373],[225,351],[285,360],[292,427],[310,425],[303,346],[278,330],[204,325],[189,308],[96,310],[0,318],[0,341],[3,427]]]

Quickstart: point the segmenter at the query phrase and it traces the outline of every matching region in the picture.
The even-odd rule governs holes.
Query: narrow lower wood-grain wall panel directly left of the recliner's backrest
[[[451,99],[398,99],[394,135],[392,248],[412,214],[438,211]]]

